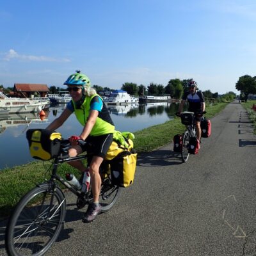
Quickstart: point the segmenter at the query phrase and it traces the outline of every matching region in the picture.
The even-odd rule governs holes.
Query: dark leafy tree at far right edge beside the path
[[[256,93],[256,77],[249,75],[239,77],[236,90],[244,94],[244,100],[247,101],[249,93]]]

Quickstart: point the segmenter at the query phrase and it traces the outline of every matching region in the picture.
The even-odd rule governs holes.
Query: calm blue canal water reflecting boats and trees
[[[136,132],[172,120],[178,107],[179,104],[162,102],[108,106],[108,109],[117,131]],[[28,150],[26,131],[47,127],[63,109],[65,104],[50,106],[45,110],[42,120],[36,113],[0,115],[0,170],[33,161]],[[61,132],[63,138],[68,138],[71,135],[79,135],[81,129],[76,116],[71,115],[58,132]]]

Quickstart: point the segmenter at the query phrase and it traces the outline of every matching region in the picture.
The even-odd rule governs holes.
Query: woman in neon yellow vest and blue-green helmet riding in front
[[[80,170],[84,175],[91,177],[93,204],[90,204],[83,216],[84,222],[95,220],[100,213],[99,193],[101,179],[99,166],[102,163],[108,149],[113,141],[115,126],[111,120],[108,109],[103,100],[93,88],[90,87],[90,79],[77,70],[76,74],[68,77],[65,83],[68,87],[72,100],[68,102],[67,108],[56,118],[46,129],[54,131],[58,129],[67,118],[75,113],[77,120],[83,125],[83,131],[79,136],[71,136],[72,147],[68,150],[70,157],[77,156],[84,152],[86,148],[77,144],[77,140],[86,140],[93,145],[93,155],[88,159],[88,169],[82,161],[69,162],[71,166]],[[86,150],[90,153],[90,150]],[[87,172],[87,173],[86,173]],[[87,184],[89,186],[89,184]]]

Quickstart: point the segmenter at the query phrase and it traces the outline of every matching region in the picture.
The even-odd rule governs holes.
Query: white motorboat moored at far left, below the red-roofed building
[[[49,104],[50,99],[47,97],[10,98],[0,92],[0,113],[38,113]]]

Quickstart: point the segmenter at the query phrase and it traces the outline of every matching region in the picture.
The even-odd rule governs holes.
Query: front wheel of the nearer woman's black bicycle
[[[63,227],[66,202],[60,188],[40,184],[15,207],[6,227],[8,255],[43,255],[56,241]]]

